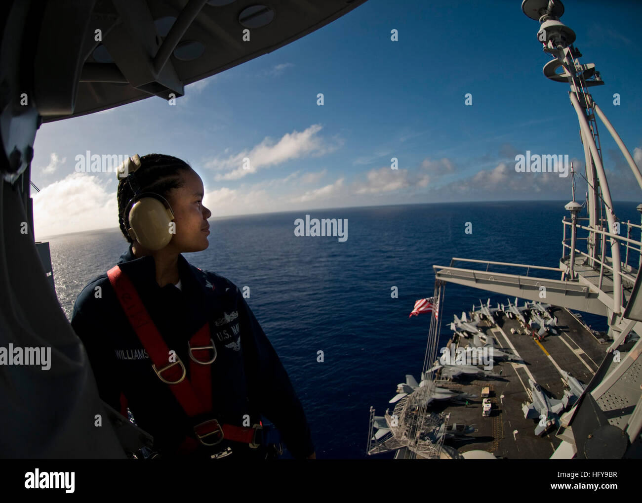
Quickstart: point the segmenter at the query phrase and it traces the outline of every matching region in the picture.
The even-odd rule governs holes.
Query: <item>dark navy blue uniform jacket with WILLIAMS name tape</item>
[[[136,258],[130,245],[118,261],[132,280],[166,344],[184,362],[189,378],[187,341],[209,321],[218,356],[212,364],[213,412],[220,423],[250,425],[261,414],[279,428],[295,458],[315,450],[303,407],[277,353],[261,330],[236,285],[214,272],[202,271],[178,256],[182,290],[160,288],[153,256]],[[98,288],[100,287],[100,288]],[[71,325],[82,340],[102,400],[121,410],[121,393],[139,427],[154,437],[154,450],[166,457],[193,435],[193,420],[180,407],[169,386],[158,378],[130,326],[107,274],[83,288],[74,304]],[[224,441],[232,457],[263,457],[263,450]],[[201,451],[203,454],[204,450]]]

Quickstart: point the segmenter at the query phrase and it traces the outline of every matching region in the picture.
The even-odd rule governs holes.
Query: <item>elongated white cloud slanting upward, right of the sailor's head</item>
[[[250,173],[256,173],[261,168],[276,166],[292,159],[299,159],[309,155],[318,157],[334,152],[338,145],[325,144],[323,139],[317,136],[321,129],[321,125],[314,124],[302,132],[286,133],[276,144],[273,144],[273,141],[266,137],[259,145],[254,146],[252,150],[243,150],[238,154],[230,155],[227,159],[212,159],[205,163],[205,167],[213,168],[217,171],[227,171],[223,175],[217,173],[214,176],[215,181],[237,180]],[[342,143],[341,140],[338,140],[339,145],[342,145]],[[243,169],[243,159],[245,157],[250,160],[247,170]]]

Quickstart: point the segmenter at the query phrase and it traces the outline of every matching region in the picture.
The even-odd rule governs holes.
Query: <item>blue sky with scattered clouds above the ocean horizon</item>
[[[580,62],[596,64],[605,81],[591,94],[642,166],[642,3],[564,5],[561,21],[577,34]],[[526,150],[568,154],[584,169],[569,87],[542,75],[550,57],[538,30],[519,0],[369,0],[303,39],[187,86],[176,106],[152,97],[44,124],[31,175],[41,189],[33,191],[36,235],[117,227],[114,173],[74,170],[86,150],[186,160],[214,217],[569,199],[570,177],[515,170]],[[612,197],[638,201],[628,165],[599,121],[598,129]],[[243,157],[252,169],[239,168]],[[586,182],[577,180],[583,200]]]

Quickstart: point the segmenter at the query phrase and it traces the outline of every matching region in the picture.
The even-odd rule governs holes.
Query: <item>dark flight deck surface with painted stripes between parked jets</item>
[[[442,455],[450,452],[456,456],[454,448],[460,454],[484,450],[498,458],[548,459],[555,452],[560,445],[555,436],[557,428],[550,428],[541,436],[536,435],[539,419],[525,419],[523,404],[532,400],[529,379],[537,382],[549,397],[560,400],[564,395],[562,371],[588,384],[612,341],[605,340],[607,336],[604,333],[590,331],[564,308],[551,306],[551,314],[557,317],[557,335],[548,333],[542,340],[532,337],[517,319],[509,319],[503,312],[492,321],[478,324],[480,331],[492,335],[501,348],[512,350],[524,363],[495,362],[492,372],[500,374],[495,378],[437,381],[438,386],[478,397],[470,398],[468,405],[449,401],[434,401],[429,405],[432,412],[450,414],[449,424],[464,423],[475,428],[469,436],[446,439]],[[467,340],[454,335],[449,343],[457,344],[456,347],[465,346]],[[492,409],[488,417],[482,416],[481,391],[484,387],[490,388]],[[402,448],[395,457],[403,458],[407,453],[406,448]]]

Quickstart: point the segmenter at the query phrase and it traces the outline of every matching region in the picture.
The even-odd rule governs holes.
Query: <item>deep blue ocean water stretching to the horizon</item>
[[[457,257],[558,267],[566,202],[420,204],[211,218],[209,248],[184,256],[239,288],[250,287],[248,304],[304,405],[317,457],[365,458],[370,405],[383,415],[397,383],[406,374],[419,378],[430,318],[408,315],[417,299],[433,295],[432,266],[449,265]],[[639,224],[636,203],[616,208],[620,220]],[[294,221],[306,213],[347,218],[347,241],[295,236]],[[472,224],[469,234],[467,222]],[[127,243],[119,229],[48,241],[56,293],[71,319],[76,296],[113,267]],[[540,276],[559,279],[557,272]],[[396,299],[392,287],[398,288]],[[441,337],[449,337],[453,314],[488,297],[492,305],[506,303],[505,296],[447,284]],[[584,318],[594,329],[605,330],[600,317]],[[317,362],[319,350],[324,362]]]

